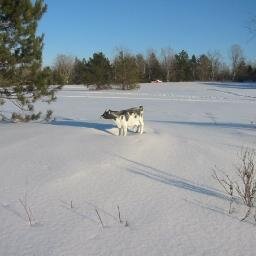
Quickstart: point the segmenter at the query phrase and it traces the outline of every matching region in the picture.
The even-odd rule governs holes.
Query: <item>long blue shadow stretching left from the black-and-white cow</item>
[[[114,132],[112,132],[111,130],[115,128],[113,124],[88,122],[88,121],[74,120],[74,119],[68,119],[68,118],[54,119],[50,122],[50,124],[95,129],[95,130],[106,132],[111,135],[114,134]]]

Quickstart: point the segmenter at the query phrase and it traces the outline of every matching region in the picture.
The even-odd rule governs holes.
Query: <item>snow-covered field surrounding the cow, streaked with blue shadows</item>
[[[100,119],[138,105],[143,135]],[[67,86],[48,108],[51,123],[0,123],[0,255],[255,255],[256,225],[227,213],[212,168],[236,177],[255,147],[256,85]]]

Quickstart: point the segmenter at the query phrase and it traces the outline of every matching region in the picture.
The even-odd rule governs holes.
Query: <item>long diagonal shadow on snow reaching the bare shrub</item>
[[[127,162],[130,162],[134,165],[134,168],[129,167],[127,169],[130,173],[140,175],[157,182],[161,182],[168,186],[189,190],[189,191],[207,195],[207,196],[213,196],[223,200],[229,200],[229,198],[225,194],[223,194],[221,191],[218,191],[214,188],[210,188],[201,184],[196,184],[190,180],[167,173],[165,171],[159,170],[149,165],[136,162],[134,160],[128,159],[120,155],[117,155],[117,157]]]

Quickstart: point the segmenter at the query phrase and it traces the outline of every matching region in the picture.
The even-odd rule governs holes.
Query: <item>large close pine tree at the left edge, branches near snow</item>
[[[13,113],[15,119],[39,118],[34,102],[43,96],[48,102],[55,99],[49,74],[41,68],[44,36],[36,35],[46,9],[43,0],[0,0],[0,101],[22,111]]]

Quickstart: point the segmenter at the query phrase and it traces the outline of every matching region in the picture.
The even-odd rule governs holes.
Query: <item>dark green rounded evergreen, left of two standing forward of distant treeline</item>
[[[111,65],[102,52],[94,53],[87,62],[88,84],[94,84],[97,89],[109,87],[111,82]]]

